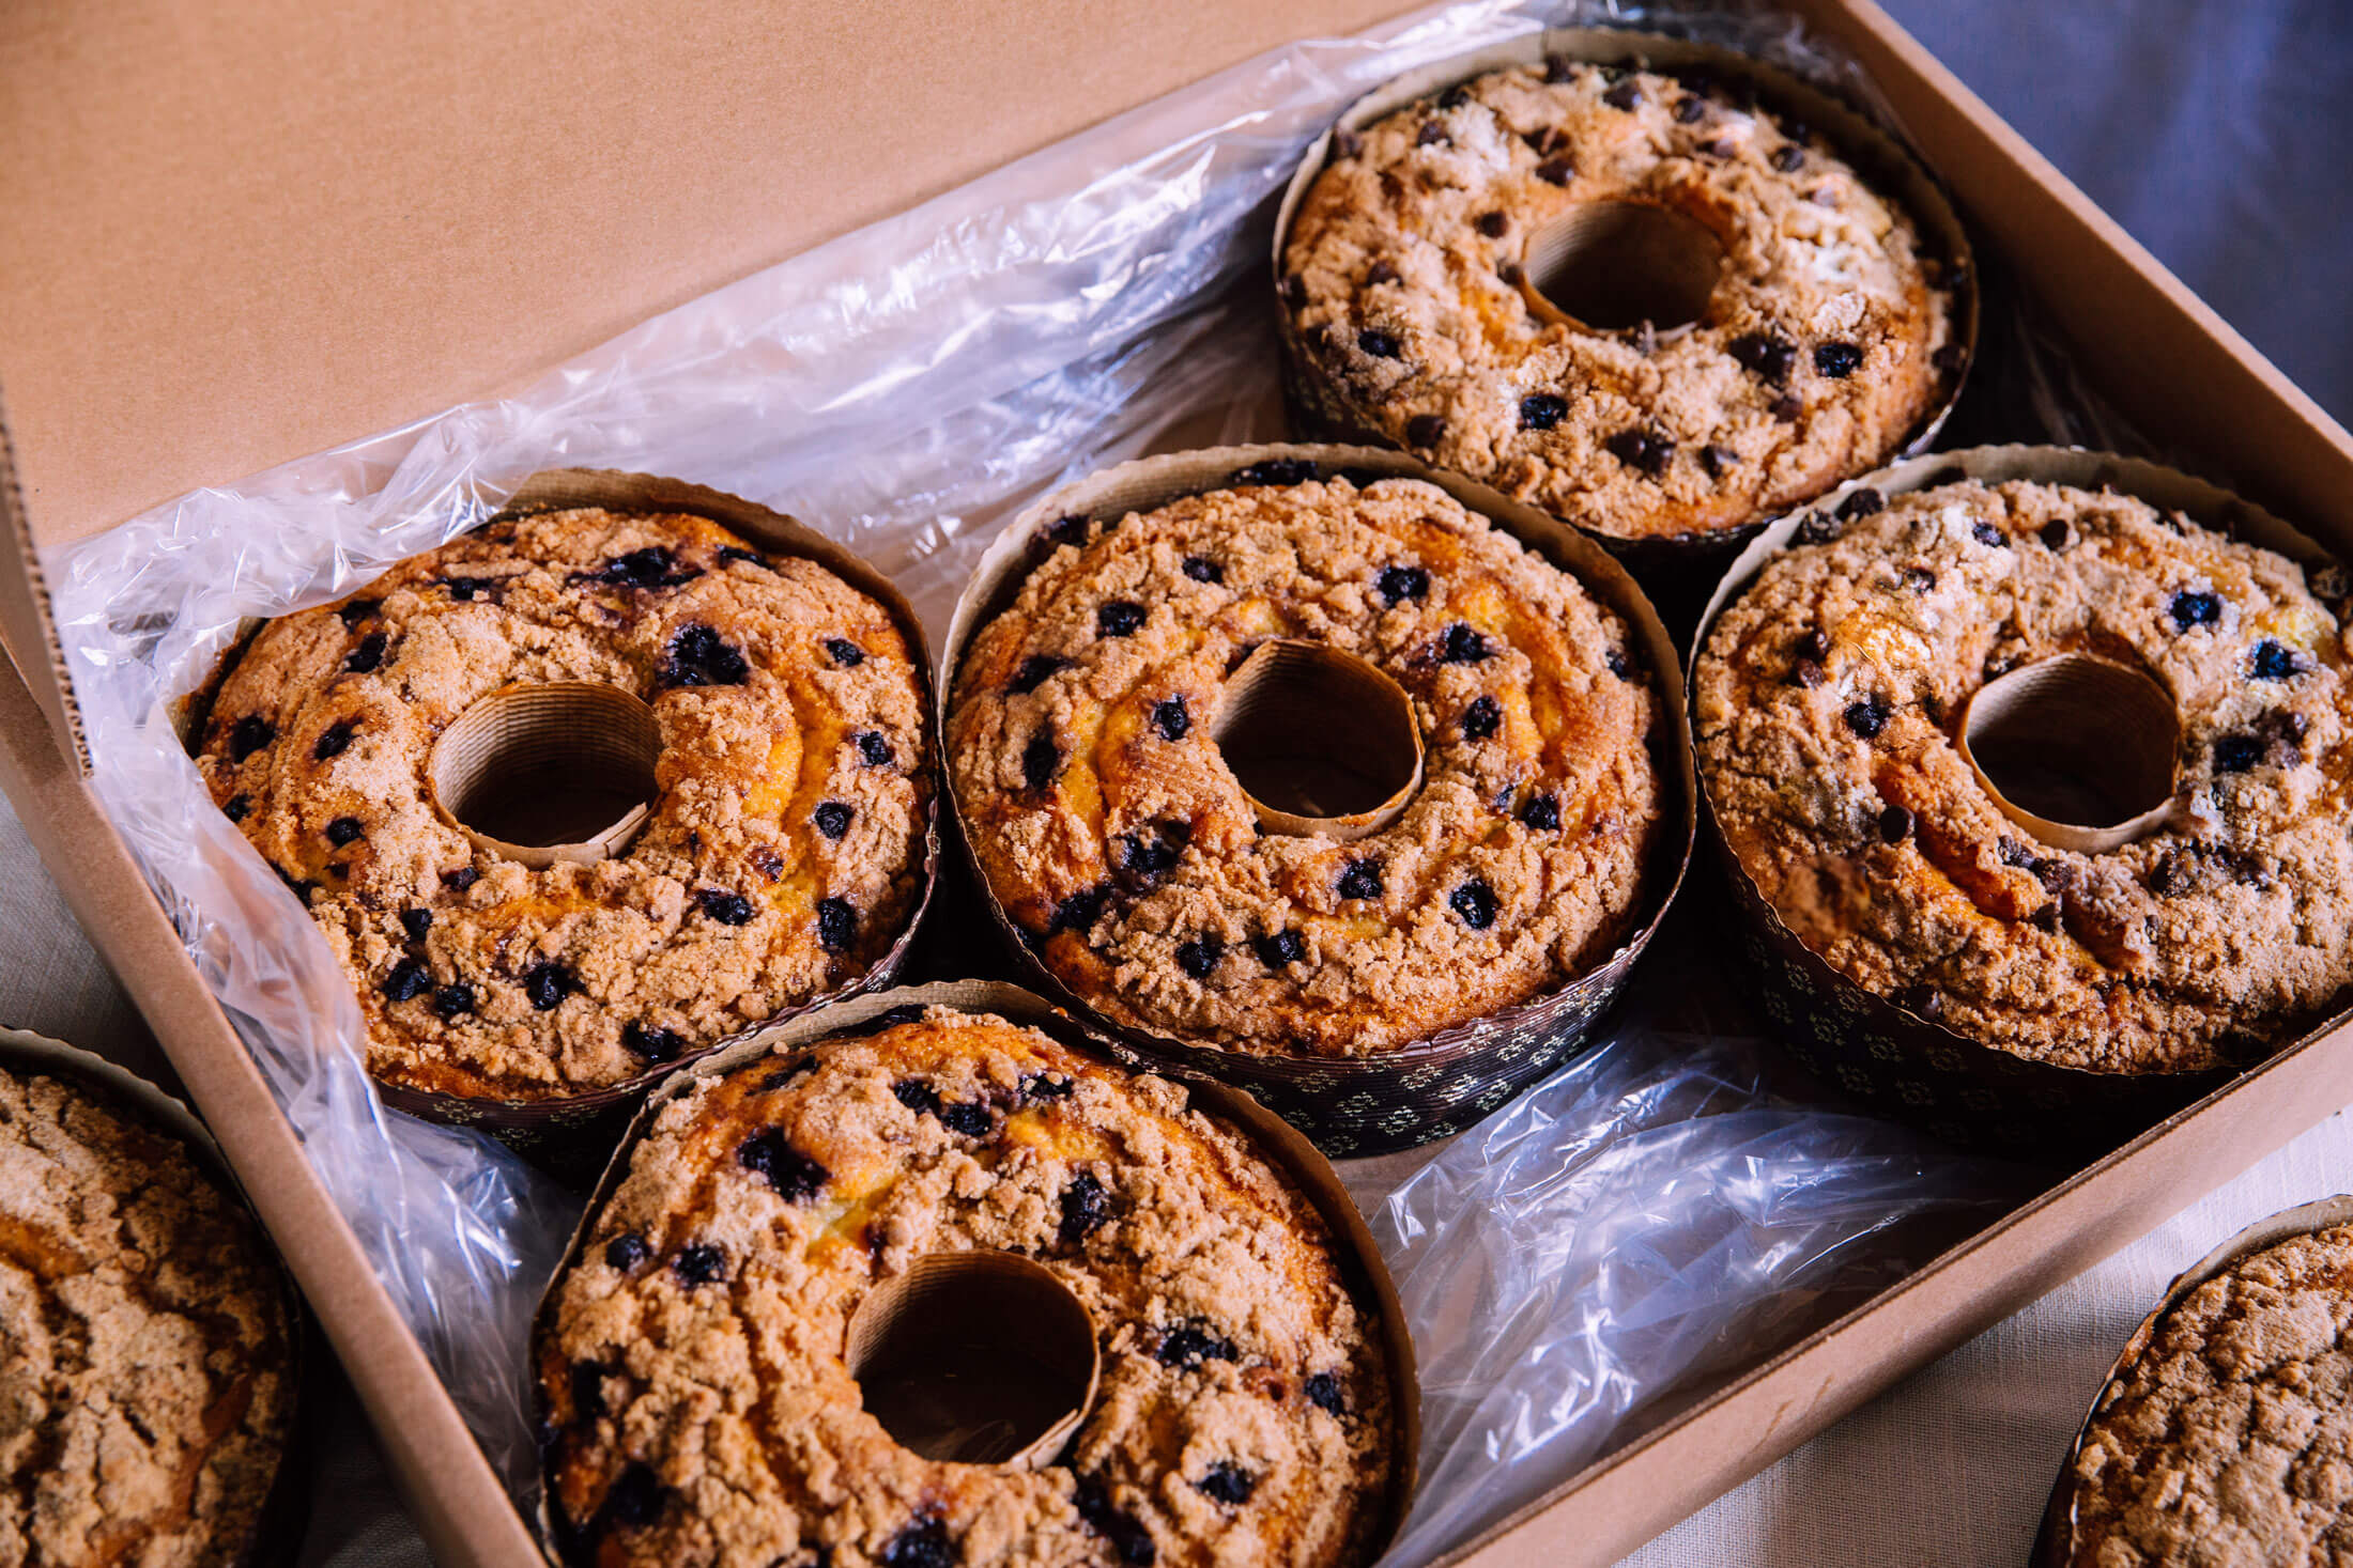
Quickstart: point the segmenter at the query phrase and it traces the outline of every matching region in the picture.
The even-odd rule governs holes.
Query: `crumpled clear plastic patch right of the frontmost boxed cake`
[[[1421,1490],[1391,1568],[2033,1190],[2019,1166],[1826,1105],[1760,1039],[1711,938],[1678,910],[1607,1044],[1405,1182],[1355,1187],[1421,1354]]]

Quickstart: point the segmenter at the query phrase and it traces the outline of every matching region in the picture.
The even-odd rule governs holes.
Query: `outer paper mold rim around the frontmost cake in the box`
[[[873,1023],[882,1013],[901,1006],[944,1006],[960,1013],[995,1013],[1009,1023],[1028,1025],[1049,1034],[1054,1041],[1113,1067],[1122,1067],[1127,1072],[1153,1072],[1148,1060],[1141,1060],[1118,1041],[1087,1030],[1080,1020],[1071,1018],[1071,1013],[1054,1006],[1045,997],[1005,980],[936,980],[932,985],[868,992],[864,997],[838,1001],[824,1013],[767,1025],[758,1034],[720,1046],[711,1056],[699,1058],[692,1067],[671,1074],[666,1081],[654,1086],[652,1093],[647,1093],[638,1114],[628,1124],[628,1133],[621,1138],[621,1147],[614,1150],[612,1161],[605,1166],[605,1175],[588,1194],[588,1204],[581,1208],[579,1229],[574,1229],[572,1239],[565,1244],[565,1253],[558,1260],[555,1272],[548,1276],[548,1288],[539,1298],[539,1307],[532,1314],[532,1349],[525,1354],[525,1375],[532,1385],[529,1396],[534,1415],[546,1420],[539,1392],[536,1347],[541,1335],[548,1331],[548,1316],[555,1312],[558,1286],[572,1272],[581,1248],[588,1246],[588,1237],[595,1232],[595,1222],[602,1215],[605,1204],[612,1201],[614,1190],[628,1175],[631,1154],[654,1126],[654,1117],[661,1114],[661,1107],[678,1095],[689,1093],[701,1079],[718,1077],[772,1051],[821,1044],[833,1034],[856,1030],[859,1025]],[[1388,1262],[1381,1258],[1381,1248],[1372,1239],[1372,1227],[1365,1225],[1365,1215],[1348,1197],[1348,1190],[1341,1187],[1332,1164],[1315,1152],[1313,1143],[1301,1138],[1297,1128],[1282,1121],[1282,1117],[1275,1117],[1240,1088],[1193,1079],[1181,1081],[1191,1098],[1191,1110],[1200,1110],[1217,1121],[1238,1126],[1268,1161],[1289,1175],[1289,1180],[1315,1208],[1315,1215],[1329,1229],[1341,1260],[1341,1279],[1346,1281],[1351,1295],[1355,1295],[1358,1307],[1362,1309],[1369,1302],[1381,1326],[1381,1349],[1388,1359],[1388,1389],[1395,1422],[1391,1434],[1388,1509],[1381,1530],[1374,1535],[1377,1544],[1365,1559],[1369,1563],[1388,1549],[1388,1542],[1395,1540],[1398,1528],[1405,1523],[1405,1512],[1414,1500],[1414,1467],[1421,1453],[1421,1380],[1414,1368],[1414,1340],[1405,1324],[1405,1307],[1398,1302],[1398,1286],[1388,1276]],[[560,1535],[553,1512],[555,1488],[544,1486],[539,1493],[539,1542],[548,1561],[560,1566]]]

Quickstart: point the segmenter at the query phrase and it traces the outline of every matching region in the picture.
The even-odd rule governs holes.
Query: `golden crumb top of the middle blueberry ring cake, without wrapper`
[[[1659,708],[1626,623],[1567,571],[1421,480],[1240,484],[1064,538],[972,639],[948,745],[991,891],[1092,1006],[1365,1056],[1624,940]],[[1412,693],[1424,785],[1381,832],[1261,835],[1212,724],[1268,637]]]

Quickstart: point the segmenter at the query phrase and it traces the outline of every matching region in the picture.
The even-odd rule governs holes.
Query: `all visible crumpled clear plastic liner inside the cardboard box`
[[[348,983],[212,809],[174,698],[245,618],[351,592],[560,465],[788,510],[899,578],[936,639],[1028,496],[1151,447],[1280,433],[1261,315],[1271,197],[1351,99],[1539,26],[1602,21],[1678,24],[1859,85],[1769,14],[1424,9],[1120,115],[654,317],[520,397],[49,555],[99,795],[518,1497],[536,1486],[522,1338],[576,1199],[478,1133],[376,1103]],[[1699,938],[1678,943],[1713,973]],[[1628,1413],[1786,1335],[1800,1302],[1901,1269],[1882,1246],[1899,1215],[2000,1194],[1984,1166],[1897,1128],[1774,1098],[1748,1039],[1628,1018],[1398,1192],[1367,1194],[1386,1199],[1431,1389],[1400,1561],[1565,1479]]]

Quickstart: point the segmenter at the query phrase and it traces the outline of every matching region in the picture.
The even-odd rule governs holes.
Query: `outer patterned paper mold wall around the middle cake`
[[[965,649],[986,621],[993,621],[1021,590],[1021,581],[1035,567],[1033,541],[1054,520],[1082,512],[1089,517],[1125,517],[1134,510],[1162,505],[1176,496],[1226,489],[1233,473],[1266,461],[1311,461],[1322,473],[1372,470],[1381,477],[1426,480],[1471,512],[1487,517],[1506,534],[1544,555],[1555,567],[1569,571],[1591,595],[1626,618],[1635,637],[1659,703],[1654,717],[1652,755],[1668,776],[1678,797],[1668,802],[1668,820],[1661,825],[1652,865],[1645,870],[1645,914],[1640,924],[1602,961],[1593,964],[1569,985],[1466,1025],[1438,1030],[1435,1034],[1365,1058],[1245,1053],[1217,1046],[1188,1044],[1122,1025],[1078,997],[1064,985],[1021,940],[995,889],[981,875],[979,856],[972,853],[969,835],[962,830],[962,806],[955,799],[948,769],[948,809],[958,823],[958,842],[965,846],[965,863],[988,905],[998,936],[1021,969],[1024,978],[1056,1006],[1066,1006],[1089,1027],[1111,1034],[1132,1051],[1151,1058],[1162,1072],[1186,1079],[1212,1077],[1238,1084],[1252,1093],[1271,1095],[1275,1110],[1299,1124],[1329,1154],[1386,1154],[1431,1143],[1487,1117],[1522,1088],[1584,1048],[1593,1025],[1607,1006],[1624,992],[1635,959],[1649,945],[1666,919],[1675,893],[1682,889],[1692,865],[1697,842],[1697,771],[1689,743],[1689,719],[1680,682],[1680,661],[1659,614],[1649,607],[1642,588],[1607,550],[1569,524],[1539,512],[1532,505],[1511,501],[1485,484],[1428,468],[1419,458],[1388,447],[1322,447],[1322,444],[1268,444],[1268,447],[1209,447],[1202,451],[1176,451],[1151,458],[1134,458],[1115,468],[1104,468],[1085,480],[1066,484],[1024,510],[988,545],[972,581],[955,602],[948,621],[946,646],[934,689],[939,691],[939,733],[946,741],[948,708],[955,698],[955,672]],[[1673,870],[1668,870],[1673,860]],[[1494,1058],[1494,1060],[1489,1060]],[[1461,1093],[1442,1107],[1433,1105],[1431,1091],[1449,1070],[1485,1072],[1478,1079],[1461,1079]],[[1367,1128],[1365,1114],[1339,1114],[1344,1100],[1362,1100],[1391,1093],[1400,1110]],[[1409,1107],[1409,1110],[1402,1110]],[[1372,1107],[1377,1110],[1377,1105]],[[1391,1126],[1393,1124],[1393,1126]]]

